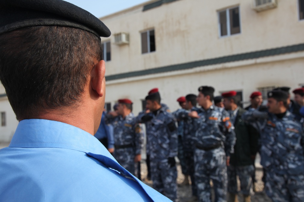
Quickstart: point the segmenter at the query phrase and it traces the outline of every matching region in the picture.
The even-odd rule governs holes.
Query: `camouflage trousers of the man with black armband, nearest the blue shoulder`
[[[150,167],[153,188],[175,201],[177,198],[176,166],[171,167],[167,160],[150,159]]]

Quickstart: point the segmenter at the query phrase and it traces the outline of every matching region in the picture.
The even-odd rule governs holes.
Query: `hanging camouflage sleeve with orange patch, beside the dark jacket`
[[[222,112],[222,124],[224,126],[224,134],[226,136],[226,141],[224,142],[226,156],[230,156],[233,153],[233,147],[236,141],[234,126],[230,121],[229,113],[226,110]]]

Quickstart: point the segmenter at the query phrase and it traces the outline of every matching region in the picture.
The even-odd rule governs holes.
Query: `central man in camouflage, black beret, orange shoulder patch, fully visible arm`
[[[191,111],[195,134],[195,180],[199,201],[211,201],[210,180],[215,191],[215,201],[226,201],[227,165],[233,153],[235,134],[229,114],[212,104],[214,88],[199,87],[198,104],[202,107]]]

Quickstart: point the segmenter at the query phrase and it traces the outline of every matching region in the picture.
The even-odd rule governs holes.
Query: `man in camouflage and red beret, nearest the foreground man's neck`
[[[111,117],[106,121],[113,125],[115,159],[134,175],[135,163],[141,160],[143,133],[132,113],[132,104],[129,99],[118,100],[117,113],[109,112]]]

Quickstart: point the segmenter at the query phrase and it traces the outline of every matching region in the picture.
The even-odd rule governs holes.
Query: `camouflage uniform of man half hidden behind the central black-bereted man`
[[[192,111],[197,110],[198,108],[193,107]],[[197,186],[195,183],[194,176],[194,150],[195,143],[193,137],[195,136],[195,131],[193,129],[192,118],[188,117],[190,111],[181,109],[172,113],[176,119],[183,120],[183,151],[184,151],[184,161],[185,161],[185,173],[190,175],[191,186],[192,186],[192,195],[197,196]]]

